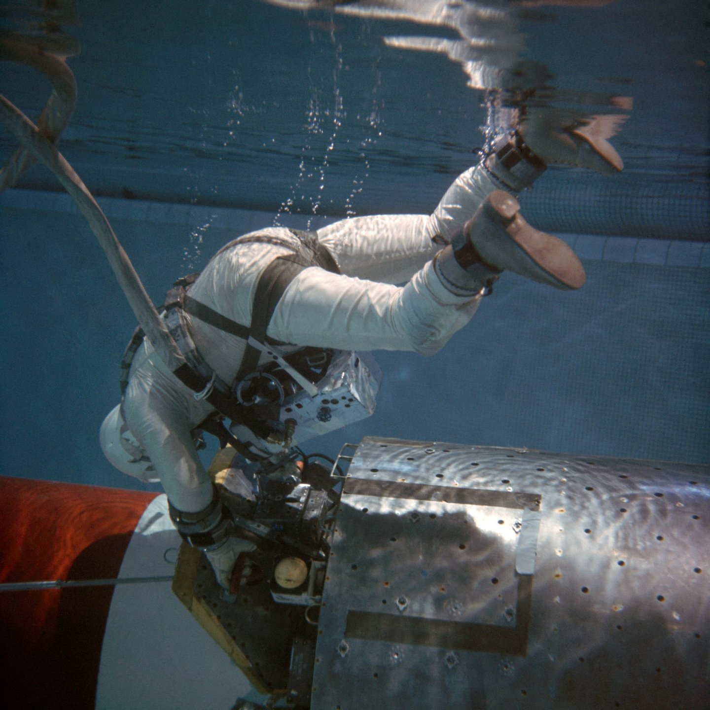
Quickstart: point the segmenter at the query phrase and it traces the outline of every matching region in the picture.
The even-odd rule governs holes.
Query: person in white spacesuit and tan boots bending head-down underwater
[[[598,120],[564,131],[503,136],[478,165],[459,175],[428,216],[344,219],[319,229],[308,244],[302,235],[277,227],[237,239],[189,288],[190,299],[231,323],[232,332],[186,309],[182,317],[195,348],[219,381],[239,380],[249,336],[239,337],[234,328],[253,325],[256,298],[271,299],[262,324],[271,342],[428,355],[471,320],[501,271],[579,288],[584,270],[577,256],[564,242],[528,225],[515,195],[549,163],[621,170],[621,158]],[[265,287],[263,275],[278,257],[285,257],[286,271],[285,265],[294,264],[290,259],[300,263],[280,281],[283,268],[276,268]],[[246,370],[269,356],[252,351],[249,357]],[[204,550],[217,581],[229,589],[239,553],[254,546],[226,523],[198,457],[192,432],[215,407],[197,389],[202,383],[190,387],[185,378],[180,381],[144,341],[133,358],[123,402],[102,425],[101,442],[121,471],[160,480],[180,534]],[[238,438],[256,457],[273,452],[271,444],[260,444],[258,433],[251,435],[251,441],[249,435]]]

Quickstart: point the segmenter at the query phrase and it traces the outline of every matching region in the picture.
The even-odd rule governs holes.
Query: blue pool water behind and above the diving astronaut
[[[69,62],[79,102],[60,148],[155,302],[258,226],[429,211],[484,140],[464,65],[391,39],[453,41],[460,26],[256,1],[79,11],[82,25],[67,27],[82,42]],[[436,356],[376,354],[376,414],[305,448],[332,455],[378,435],[707,463],[710,102],[697,4],[533,4],[514,29],[519,56],[554,75],[538,91],[545,106],[584,99],[628,115],[611,139],[624,173],[550,168],[523,198],[530,222],[575,246],[587,283],[547,293],[506,275]],[[15,67],[2,91],[31,116],[47,96]],[[104,255],[43,168],[0,209],[4,473],[142,487],[97,440],[135,325]]]

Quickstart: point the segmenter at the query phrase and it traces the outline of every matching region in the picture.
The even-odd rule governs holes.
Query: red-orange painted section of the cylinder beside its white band
[[[116,577],[155,496],[0,477],[0,583]],[[113,586],[0,593],[0,707],[94,707],[113,593]]]

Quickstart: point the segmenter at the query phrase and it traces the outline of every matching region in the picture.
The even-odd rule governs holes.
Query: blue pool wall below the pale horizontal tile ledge
[[[179,275],[275,216],[99,203],[156,303]],[[309,224],[298,215],[281,222]],[[376,413],[304,449],[333,456],[376,435],[710,463],[710,244],[559,236],[584,262],[584,288],[563,293],[503,275],[435,356],[376,352]],[[99,449],[136,322],[87,222],[63,193],[9,190],[0,237],[2,473],[151,488],[112,469]]]

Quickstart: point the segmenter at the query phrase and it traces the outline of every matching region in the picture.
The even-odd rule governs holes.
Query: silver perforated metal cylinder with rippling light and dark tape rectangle
[[[705,706],[709,493],[708,466],[364,439],[313,710]]]

